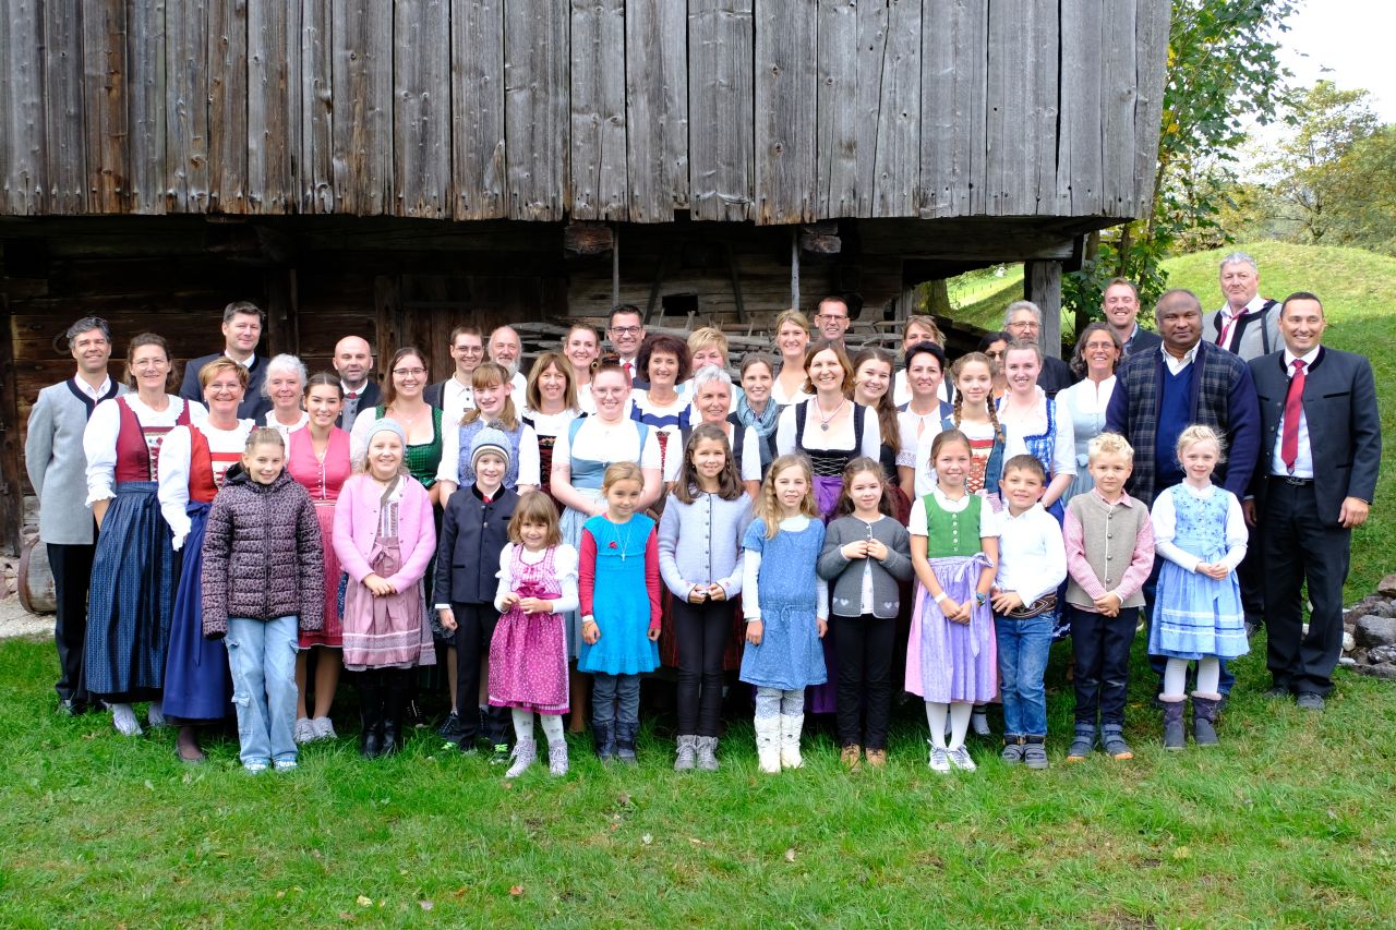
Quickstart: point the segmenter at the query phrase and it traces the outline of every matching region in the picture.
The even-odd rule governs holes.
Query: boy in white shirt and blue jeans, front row
[[[1047,768],[1047,690],[1057,586],[1067,578],[1061,526],[1039,503],[1047,473],[1033,455],[1004,462],[998,486],[1007,510],[994,580],[998,688],[1004,700],[1004,751],[1009,765]]]

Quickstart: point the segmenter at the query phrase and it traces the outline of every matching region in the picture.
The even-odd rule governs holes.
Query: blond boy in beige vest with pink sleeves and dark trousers
[[[1153,570],[1153,522],[1125,493],[1134,448],[1117,433],[1101,433],[1087,447],[1094,487],[1067,504],[1067,613],[1076,652],[1076,732],[1068,762],[1096,746],[1113,758],[1134,758],[1124,737],[1129,647],[1143,606],[1143,582]]]

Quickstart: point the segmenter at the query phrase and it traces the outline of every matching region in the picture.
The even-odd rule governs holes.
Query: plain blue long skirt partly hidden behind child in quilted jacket
[[[204,638],[204,531],[211,507],[191,500],[186,508],[190,528],[165,659],[165,714],[181,721],[221,721],[233,697],[228,649],[222,641]]]

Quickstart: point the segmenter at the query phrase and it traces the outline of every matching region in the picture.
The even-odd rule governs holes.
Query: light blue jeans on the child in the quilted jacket
[[[296,760],[296,617],[228,619],[228,667],[233,673],[239,758]]]

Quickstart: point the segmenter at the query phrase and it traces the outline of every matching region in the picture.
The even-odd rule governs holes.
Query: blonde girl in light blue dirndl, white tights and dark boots
[[[1222,659],[1249,651],[1235,567],[1245,559],[1245,518],[1235,494],[1212,483],[1222,438],[1206,426],[1178,436],[1184,480],[1153,503],[1154,550],[1163,556],[1149,626],[1149,655],[1167,658],[1163,674],[1163,746],[1181,750],[1188,662],[1198,663],[1192,693],[1192,737],[1216,746],[1217,683]]]

